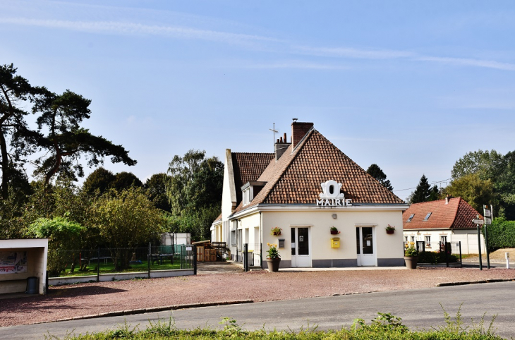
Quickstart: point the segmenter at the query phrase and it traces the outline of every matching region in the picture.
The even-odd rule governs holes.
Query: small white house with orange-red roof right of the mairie
[[[477,254],[478,229],[472,220],[478,215],[483,219],[462,198],[413,204],[402,214],[404,241],[424,241],[426,251],[437,251],[440,242],[461,242],[462,254]],[[480,239],[482,253],[485,253],[483,233]],[[456,246],[453,248],[457,249]]]

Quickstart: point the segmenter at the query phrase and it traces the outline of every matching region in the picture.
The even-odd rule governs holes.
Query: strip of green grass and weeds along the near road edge
[[[442,307],[443,309],[443,307]],[[63,340],[111,340],[111,339],[135,339],[135,340],[164,340],[164,339],[348,339],[348,340],[368,340],[368,339],[391,339],[391,340],[499,340],[500,336],[495,335],[492,321],[485,328],[485,315],[478,323],[473,322],[472,327],[465,327],[461,320],[461,305],[456,313],[454,320],[444,310],[445,326],[432,327],[429,330],[411,331],[401,323],[401,318],[389,313],[377,313],[370,324],[363,319],[354,320],[351,327],[342,327],[339,330],[318,331],[317,326],[301,328],[298,332],[291,329],[288,331],[266,331],[265,327],[257,331],[246,331],[241,328],[229,317],[224,317],[220,324],[223,329],[213,329],[211,327],[196,328],[190,330],[178,329],[172,317],[168,322],[159,320],[140,330],[139,325],[131,326],[126,322],[118,329],[108,332],[92,333],[75,336],[68,334]],[[49,334],[45,339],[59,339]]]

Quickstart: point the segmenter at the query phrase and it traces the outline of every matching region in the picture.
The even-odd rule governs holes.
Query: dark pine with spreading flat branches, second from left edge
[[[82,177],[83,166],[78,162],[81,157],[87,159],[88,166],[103,163],[106,156],[111,156],[114,163],[136,164],[121,145],[80,127],[84,119],[90,118],[90,103],[90,99],[70,90],[62,95],[44,90],[44,95],[37,99],[35,111],[40,113],[37,125],[44,133],[40,147],[47,153],[36,164],[37,173],[44,175],[44,183],[49,183],[57,173]]]

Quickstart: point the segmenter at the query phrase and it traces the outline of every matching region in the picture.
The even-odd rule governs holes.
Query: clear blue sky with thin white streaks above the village
[[[513,1],[4,1],[0,63],[92,99],[143,181],[175,154],[272,152],[315,128],[406,198],[515,150]],[[87,171],[87,174],[90,171]],[[445,183],[443,183],[445,185]]]

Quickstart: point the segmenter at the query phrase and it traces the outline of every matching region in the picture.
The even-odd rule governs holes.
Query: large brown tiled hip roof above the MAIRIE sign
[[[272,160],[257,181],[267,184],[249,205],[235,212],[265,204],[315,204],[322,193],[320,183],[342,183],[341,192],[355,203],[404,203],[358,164],[313,129],[298,147],[289,149],[277,162]]]

